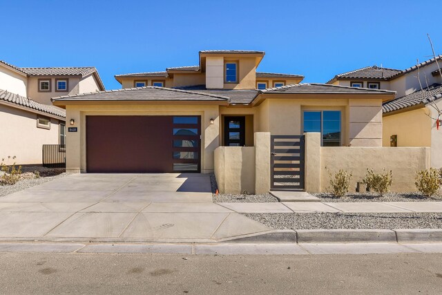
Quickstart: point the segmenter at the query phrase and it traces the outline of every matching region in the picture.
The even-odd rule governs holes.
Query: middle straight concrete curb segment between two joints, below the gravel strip
[[[299,229],[298,243],[396,242],[396,233],[390,229]]]

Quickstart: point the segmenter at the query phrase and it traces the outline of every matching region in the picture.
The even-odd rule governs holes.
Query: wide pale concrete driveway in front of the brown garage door
[[[215,242],[269,230],[213,203],[204,174],[75,174],[0,198],[1,240]]]

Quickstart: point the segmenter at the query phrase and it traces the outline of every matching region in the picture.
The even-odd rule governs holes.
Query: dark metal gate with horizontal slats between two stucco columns
[[[271,189],[304,189],[304,135],[271,135]]]

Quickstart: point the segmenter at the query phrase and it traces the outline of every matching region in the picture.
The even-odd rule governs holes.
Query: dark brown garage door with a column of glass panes
[[[200,172],[199,116],[86,116],[90,173]]]

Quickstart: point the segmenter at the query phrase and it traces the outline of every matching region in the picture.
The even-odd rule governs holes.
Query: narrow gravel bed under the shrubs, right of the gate
[[[378,196],[376,193],[349,193],[343,198],[334,197],[331,193],[311,193],[320,198],[321,202],[436,202],[441,196],[425,197],[420,193],[386,193]]]

